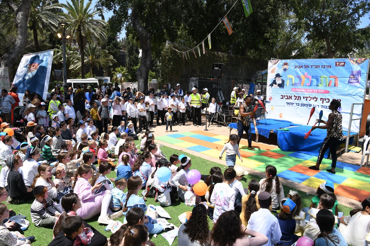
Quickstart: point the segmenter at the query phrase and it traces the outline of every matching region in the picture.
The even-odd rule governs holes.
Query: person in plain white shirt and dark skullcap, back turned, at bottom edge
[[[282,233],[279,221],[269,210],[269,206],[272,204],[270,193],[262,191],[258,194],[258,203],[261,208],[250,215],[247,228],[262,233],[269,239],[262,246],[273,246],[280,241]]]

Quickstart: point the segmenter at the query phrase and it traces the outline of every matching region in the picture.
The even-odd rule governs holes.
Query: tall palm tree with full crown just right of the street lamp
[[[85,44],[92,42],[92,38],[101,40],[105,37],[102,26],[105,26],[105,21],[94,19],[94,16],[99,14],[99,11],[92,11],[90,8],[91,1],[71,0],[67,4],[62,4],[67,10],[64,14],[66,18],[67,33],[71,34],[70,41],[75,38],[80,47],[81,55],[81,78],[85,78]]]

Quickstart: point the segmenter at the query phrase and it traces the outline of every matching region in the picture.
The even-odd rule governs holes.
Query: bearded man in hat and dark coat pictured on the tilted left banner
[[[44,60],[40,60],[38,55],[31,57],[30,61],[24,68],[27,68],[27,72],[23,75],[23,78],[18,82],[13,83],[12,86],[17,86],[19,92],[30,90],[40,95],[44,93],[44,86],[47,74],[47,67],[40,66]]]

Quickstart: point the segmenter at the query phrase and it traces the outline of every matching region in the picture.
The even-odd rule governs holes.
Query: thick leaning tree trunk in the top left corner
[[[9,2],[10,8],[16,13],[17,39],[10,51],[0,59],[1,67],[13,67],[19,59],[18,54],[23,54],[27,42],[27,21],[30,15],[31,0],[22,0],[17,8],[16,4]]]

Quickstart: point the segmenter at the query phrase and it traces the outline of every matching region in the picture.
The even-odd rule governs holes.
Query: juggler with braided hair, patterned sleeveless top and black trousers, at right
[[[332,156],[332,168],[326,171],[335,174],[335,167],[337,165],[337,148],[340,142],[343,140],[343,130],[342,130],[342,114],[338,111],[340,108],[340,102],[333,99],[330,102],[329,109],[332,113],[329,114],[328,120],[316,119],[316,123],[324,123],[321,126],[313,126],[312,130],[327,129],[326,137],[324,139],[323,145],[320,148],[319,156],[317,157],[316,165],[309,167],[312,170],[320,170],[320,164],[324,158],[325,152],[329,149],[330,155]]]

